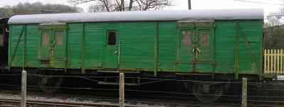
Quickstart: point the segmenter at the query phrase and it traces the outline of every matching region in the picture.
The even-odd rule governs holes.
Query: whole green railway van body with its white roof
[[[9,19],[9,67],[262,73],[263,11],[126,11]]]

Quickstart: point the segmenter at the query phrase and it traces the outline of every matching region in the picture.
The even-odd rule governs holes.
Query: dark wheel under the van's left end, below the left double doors
[[[54,93],[60,88],[62,81],[62,77],[42,77],[38,81],[38,86],[43,92]]]

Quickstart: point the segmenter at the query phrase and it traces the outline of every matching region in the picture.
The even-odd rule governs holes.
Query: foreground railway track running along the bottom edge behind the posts
[[[129,104],[135,103],[135,104]],[[147,103],[147,104],[145,104]],[[18,107],[21,104],[20,99],[0,99],[0,107]],[[118,103],[73,103],[73,102],[58,102],[58,101],[27,101],[27,106],[56,106],[56,107],[117,107]],[[136,102],[136,101],[127,101],[125,107],[239,107],[239,104],[232,103],[157,103],[157,102]]]

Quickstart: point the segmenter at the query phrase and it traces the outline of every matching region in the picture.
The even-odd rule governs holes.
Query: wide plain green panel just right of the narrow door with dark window
[[[120,69],[154,71],[157,23],[119,23]]]

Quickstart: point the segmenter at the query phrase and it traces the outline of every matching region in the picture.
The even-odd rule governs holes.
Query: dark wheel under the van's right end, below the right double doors
[[[222,84],[194,84],[192,92],[199,101],[212,103],[222,96],[223,89]]]

